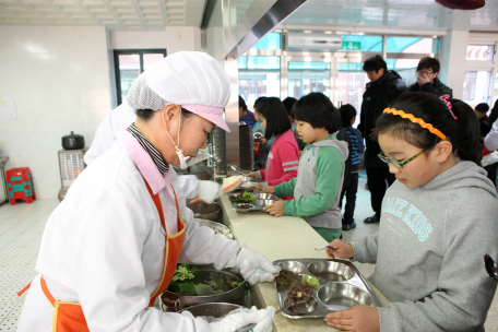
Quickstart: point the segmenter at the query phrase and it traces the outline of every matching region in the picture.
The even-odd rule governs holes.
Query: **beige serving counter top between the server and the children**
[[[303,218],[273,217],[266,212],[237,213],[232,209],[228,194],[220,198],[218,203],[223,210],[225,225],[232,228],[235,238],[242,247],[264,254],[270,261],[293,258],[329,258],[325,251],[315,250],[316,247],[324,245],[325,240]],[[364,264],[355,263],[355,265],[364,274]],[[370,286],[381,306],[387,307],[389,300],[371,284]],[[273,283],[259,283],[252,286],[251,296],[258,308],[266,306],[277,308]],[[331,332],[339,330],[328,327],[323,319],[288,319],[277,315],[273,322],[273,331]]]

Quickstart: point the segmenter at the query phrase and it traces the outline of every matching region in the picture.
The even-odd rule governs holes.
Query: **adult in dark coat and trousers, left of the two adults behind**
[[[358,130],[365,138],[365,166],[367,167],[368,189],[370,190],[371,209],[375,215],[367,217],[365,223],[377,223],[380,220],[382,199],[386,190],[395,177],[389,173],[388,164],[377,156],[380,153],[377,141],[377,118],[394,98],[408,92],[408,87],[401,76],[388,70],[386,61],[380,56],[375,56],[365,61],[363,70],[367,72],[367,90],[363,95],[360,123]]]

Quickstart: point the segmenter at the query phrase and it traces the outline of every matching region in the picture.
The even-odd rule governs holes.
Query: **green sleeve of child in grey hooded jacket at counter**
[[[318,175],[315,194],[284,202],[284,215],[311,216],[329,210],[339,193],[344,161],[335,147],[318,150],[315,169]],[[299,175],[297,175],[299,176]]]

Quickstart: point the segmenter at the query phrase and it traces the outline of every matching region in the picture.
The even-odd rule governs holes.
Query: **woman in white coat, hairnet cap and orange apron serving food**
[[[133,83],[138,120],[88,166],[50,215],[17,331],[271,331],[269,307],[208,323],[153,308],[177,262],[236,268],[250,283],[278,272],[268,259],[192,222],[178,200],[169,165],[206,145],[213,127],[228,130],[229,80],[203,52],[177,52]]]

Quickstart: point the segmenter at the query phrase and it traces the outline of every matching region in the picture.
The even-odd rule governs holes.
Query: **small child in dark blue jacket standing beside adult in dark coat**
[[[342,227],[343,230],[349,230],[356,227],[354,215],[356,192],[358,191],[359,153],[365,151],[365,144],[359,130],[352,127],[356,119],[356,109],[354,106],[351,104],[343,105],[339,111],[341,112],[344,131],[348,135],[353,147],[351,151],[349,187],[343,188],[341,200],[339,201],[339,206],[342,208],[344,194],[346,195],[346,206],[344,208]]]

